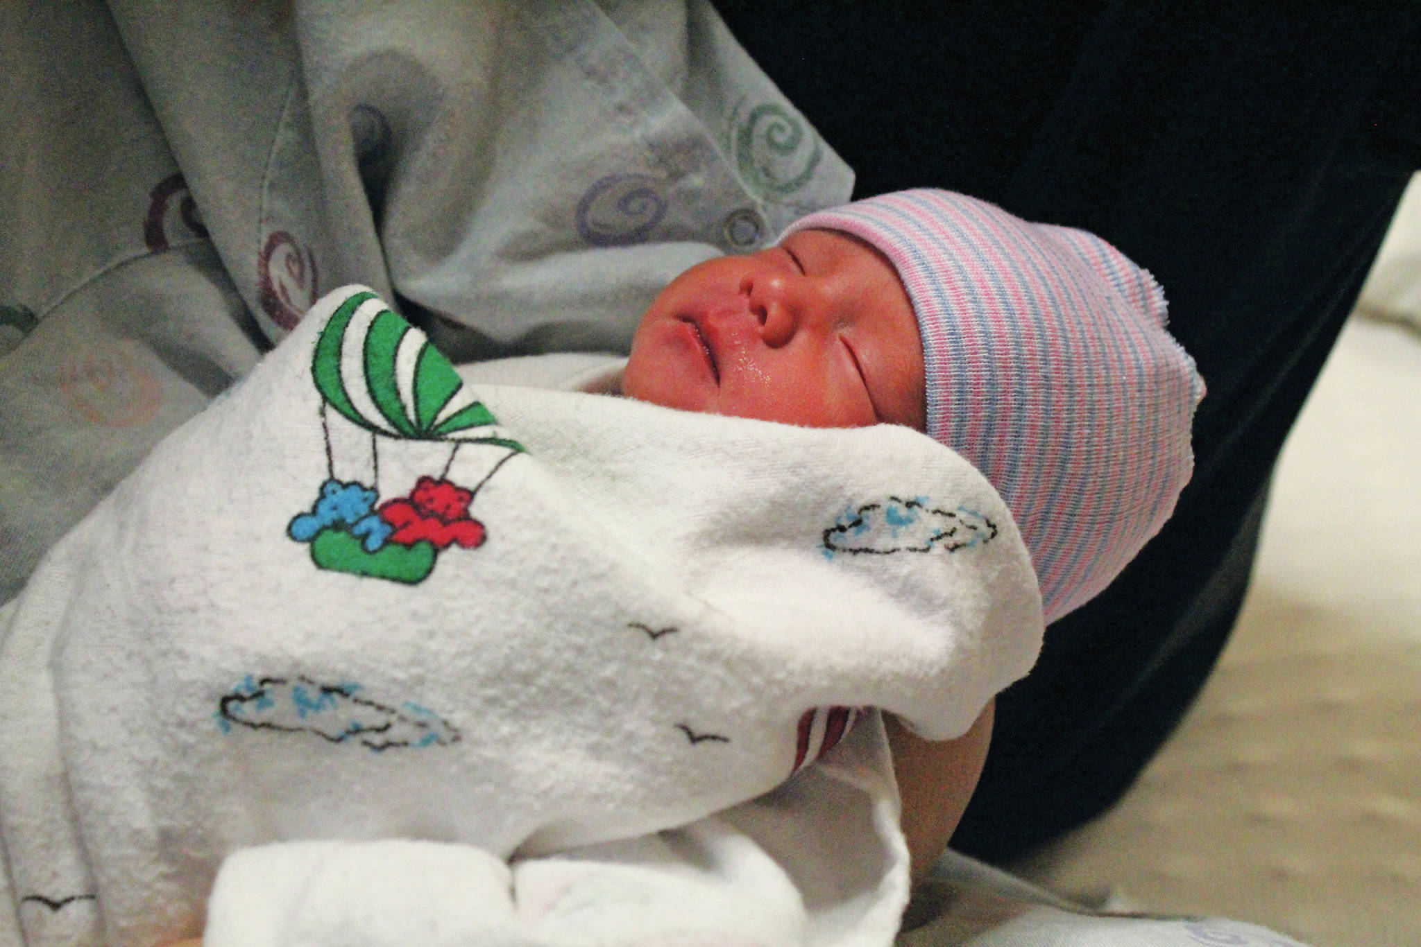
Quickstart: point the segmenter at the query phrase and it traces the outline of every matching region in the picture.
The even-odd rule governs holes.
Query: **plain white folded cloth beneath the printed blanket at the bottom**
[[[396,839],[243,849],[217,876],[203,943],[885,947],[908,853],[871,724],[766,797],[547,858]]]

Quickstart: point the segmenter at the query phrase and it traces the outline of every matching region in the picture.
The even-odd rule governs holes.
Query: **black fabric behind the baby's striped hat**
[[[1421,9],[716,7],[855,196],[949,187],[1101,234],[1209,386],[1174,520],[998,700],[953,848],[1012,859],[1130,787],[1228,640],[1283,439],[1421,168]]]

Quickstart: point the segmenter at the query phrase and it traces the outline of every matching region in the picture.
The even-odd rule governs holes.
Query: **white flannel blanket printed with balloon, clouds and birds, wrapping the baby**
[[[648,833],[699,819],[702,866],[736,862],[756,843],[713,839],[750,839],[774,805],[732,806],[858,708],[958,735],[1042,635],[1010,515],[928,437],[475,393],[360,287],[165,440],[0,615],[0,831],[31,946],[195,933],[252,846],[210,947],[412,943],[399,919],[423,916],[392,877],[452,899],[425,943],[611,943],[587,940],[585,892],[585,923],[533,933],[568,886],[531,906],[509,859],[524,880],[570,849],[649,859],[649,879],[645,846],[676,843]],[[848,770],[882,774],[868,720]],[[804,811],[823,823],[806,839],[837,838],[831,806]],[[756,850],[742,867],[774,863]],[[796,873],[814,870],[782,872],[790,902]]]

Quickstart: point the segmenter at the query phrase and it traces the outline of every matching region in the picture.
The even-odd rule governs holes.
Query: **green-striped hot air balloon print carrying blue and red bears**
[[[311,508],[291,518],[287,534],[310,544],[317,566],[416,584],[450,545],[483,544],[486,528],[469,505],[523,446],[497,427],[423,332],[374,292],[352,292],[315,341],[311,378],[321,395],[327,480]],[[369,433],[371,486],[335,477],[333,420]],[[449,443],[449,459],[438,476],[421,476],[409,496],[381,503],[379,444],[401,440]],[[460,487],[448,474],[463,444],[493,444],[507,453],[475,487]]]

